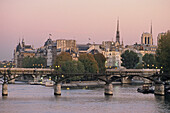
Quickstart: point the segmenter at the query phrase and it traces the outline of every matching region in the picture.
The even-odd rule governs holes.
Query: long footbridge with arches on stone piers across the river
[[[105,81],[105,95],[113,95],[112,81],[118,78],[122,78],[122,83],[130,83],[130,79],[134,76],[150,77],[155,73],[159,73],[159,69],[107,69],[106,73],[75,73],[75,74],[64,74],[57,73],[54,69],[47,68],[0,68],[0,76],[3,77],[2,84],[2,95],[7,96],[7,84],[9,81],[22,75],[32,75],[37,77],[39,75],[52,76],[55,82],[54,95],[61,95],[61,82],[74,76],[94,76],[98,80]]]

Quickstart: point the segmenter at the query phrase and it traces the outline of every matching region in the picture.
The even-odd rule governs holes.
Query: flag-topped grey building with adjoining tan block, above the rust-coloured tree
[[[47,60],[47,67],[52,67],[56,56],[61,52],[69,52],[72,58],[76,60],[76,41],[65,39],[52,40],[50,35],[44,46],[37,49],[36,57],[44,57]]]

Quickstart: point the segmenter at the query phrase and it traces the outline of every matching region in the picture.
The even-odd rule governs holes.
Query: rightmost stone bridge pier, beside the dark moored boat
[[[155,95],[165,95],[165,85],[164,84],[155,84]]]

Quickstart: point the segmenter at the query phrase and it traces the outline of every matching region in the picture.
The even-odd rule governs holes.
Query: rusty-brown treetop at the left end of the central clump
[[[54,67],[62,66],[63,61],[72,61],[71,55],[67,52],[61,52],[61,54],[56,56]]]

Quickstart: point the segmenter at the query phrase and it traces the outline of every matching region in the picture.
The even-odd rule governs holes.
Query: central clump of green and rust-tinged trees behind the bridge
[[[62,52],[56,57],[54,68],[62,73],[98,73],[105,72],[103,54],[80,54],[78,61],[72,60],[69,53]]]

